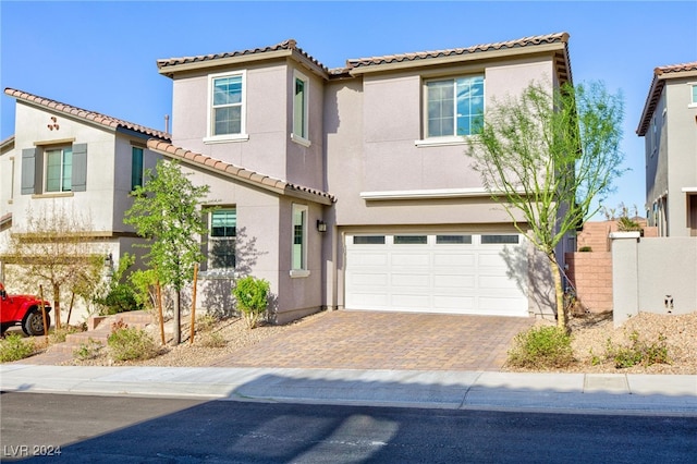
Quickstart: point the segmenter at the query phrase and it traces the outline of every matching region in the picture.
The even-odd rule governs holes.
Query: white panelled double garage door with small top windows
[[[528,316],[517,234],[346,235],[348,309]]]

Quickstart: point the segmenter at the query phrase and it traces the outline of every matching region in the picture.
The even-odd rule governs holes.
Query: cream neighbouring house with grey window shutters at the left
[[[16,100],[16,122],[0,151],[0,277],[12,264],[3,256],[9,235],[27,232],[28,215],[75,215],[108,266],[135,253],[139,239],[124,225],[124,211],[144,169],[156,163],[147,141],[169,141],[169,134],[25,91],[4,93]]]

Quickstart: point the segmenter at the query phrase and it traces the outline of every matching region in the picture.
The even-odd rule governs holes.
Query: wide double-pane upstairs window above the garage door
[[[426,83],[426,136],[478,134],[484,124],[484,76]]]

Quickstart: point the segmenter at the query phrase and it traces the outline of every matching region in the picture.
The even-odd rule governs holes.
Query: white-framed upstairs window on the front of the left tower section
[[[245,74],[215,75],[210,78],[209,135],[240,138],[245,132]]]

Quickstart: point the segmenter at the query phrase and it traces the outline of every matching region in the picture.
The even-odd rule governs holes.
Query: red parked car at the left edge
[[[51,327],[50,303],[44,301],[46,309],[46,323]],[[0,282],[0,335],[12,326],[22,326],[27,335],[42,335],[44,315],[41,315],[41,301],[34,295],[9,295],[4,285]]]

